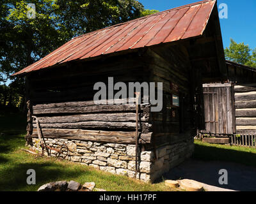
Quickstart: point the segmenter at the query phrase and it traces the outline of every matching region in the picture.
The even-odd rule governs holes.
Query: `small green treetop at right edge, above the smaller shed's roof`
[[[225,48],[225,57],[229,61],[256,68],[256,48],[252,50],[244,43],[236,43],[231,39],[229,48]]]

